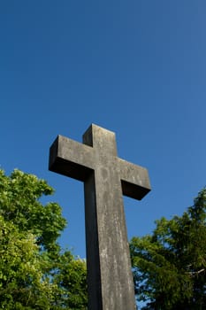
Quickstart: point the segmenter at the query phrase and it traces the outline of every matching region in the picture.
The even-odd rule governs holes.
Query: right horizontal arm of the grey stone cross
[[[141,200],[151,190],[148,170],[118,159],[123,195]]]

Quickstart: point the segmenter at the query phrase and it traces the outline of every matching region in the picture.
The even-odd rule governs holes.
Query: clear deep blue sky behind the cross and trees
[[[83,185],[48,171],[50,144],[95,123],[149,169],[149,195],[125,199],[129,238],[182,214],[206,184],[205,16],[204,0],[1,2],[0,164],[55,188],[80,257]]]

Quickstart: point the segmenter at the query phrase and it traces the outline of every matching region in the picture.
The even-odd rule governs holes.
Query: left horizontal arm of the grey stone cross
[[[49,169],[83,182],[93,169],[93,157],[92,147],[57,136],[50,147]]]

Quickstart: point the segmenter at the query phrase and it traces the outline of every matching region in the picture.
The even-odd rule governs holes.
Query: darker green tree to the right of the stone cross
[[[134,287],[143,309],[206,309],[206,189],[182,216],[156,221],[130,243]]]

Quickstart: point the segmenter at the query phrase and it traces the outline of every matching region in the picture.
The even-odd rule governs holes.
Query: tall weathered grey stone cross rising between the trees
[[[119,159],[115,134],[92,124],[83,143],[57,136],[50,171],[84,182],[88,309],[136,309],[122,195],[149,192],[147,169]]]

